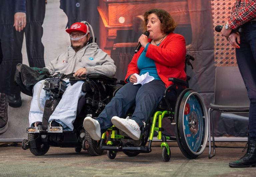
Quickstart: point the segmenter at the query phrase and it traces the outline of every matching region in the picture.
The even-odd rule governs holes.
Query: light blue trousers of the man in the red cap
[[[43,80],[37,82],[33,87],[33,98],[31,101],[30,111],[29,111],[29,124],[32,126],[35,122],[42,122],[43,111],[38,107],[38,92]],[[77,81],[75,84],[71,85],[69,80],[66,80],[67,88],[62,98],[57,105],[55,111],[49,118],[49,122],[56,121],[63,126],[63,130],[72,131],[73,123],[76,119],[77,104],[81,96],[85,95],[82,92],[83,81]],[[41,90],[40,93],[40,105],[44,108],[45,101],[50,98],[50,93],[45,90]]]

